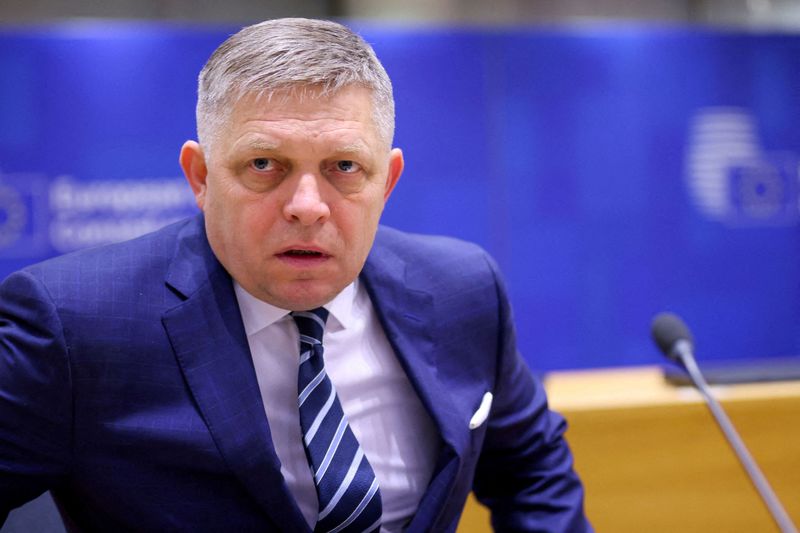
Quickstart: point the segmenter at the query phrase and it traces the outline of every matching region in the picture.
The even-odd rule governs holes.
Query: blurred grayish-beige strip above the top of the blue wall
[[[237,24],[276,17],[515,25],[631,20],[791,29],[800,24],[800,6],[792,0],[5,0],[0,17],[10,23],[80,17]]]

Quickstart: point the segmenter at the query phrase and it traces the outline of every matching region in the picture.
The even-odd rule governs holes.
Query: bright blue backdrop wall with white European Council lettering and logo
[[[800,36],[354,25],[395,83],[384,216],[486,247],[540,370],[800,354]],[[177,154],[236,28],[0,32],[0,277],[194,211]]]

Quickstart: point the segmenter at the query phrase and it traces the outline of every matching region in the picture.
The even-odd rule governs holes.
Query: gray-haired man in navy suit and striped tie
[[[369,45],[245,28],[197,122],[201,215],[0,287],[0,516],[49,489],[77,531],[452,531],[474,489],[498,530],[590,529],[494,263],[378,228]]]

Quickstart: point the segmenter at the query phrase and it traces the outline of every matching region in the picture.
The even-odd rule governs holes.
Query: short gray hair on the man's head
[[[247,26],[222,43],[200,71],[198,139],[208,151],[234,104],[246,95],[327,97],[351,85],[372,91],[378,136],[391,146],[392,82],[359,35],[326,20],[286,18]]]

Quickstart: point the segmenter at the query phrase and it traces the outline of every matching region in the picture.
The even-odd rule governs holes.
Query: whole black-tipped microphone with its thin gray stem
[[[739,459],[739,462],[744,467],[747,475],[750,477],[753,485],[755,485],[758,494],[769,509],[772,519],[778,525],[782,533],[797,533],[797,529],[792,523],[789,515],[781,505],[780,500],[775,495],[775,492],[770,487],[769,482],[761,473],[758,465],[753,460],[747,447],[744,445],[739,433],[733,427],[733,423],[728,418],[728,415],[722,409],[720,403],[711,394],[711,389],[706,383],[703,373],[697,366],[694,359],[694,339],[692,338],[689,328],[686,327],[683,320],[673,313],[659,313],[653,319],[651,327],[653,340],[658,345],[659,349],[669,359],[682,365],[689,373],[695,386],[697,387],[700,395],[706,401],[711,414],[719,425],[722,433],[731,445],[733,451]]]

